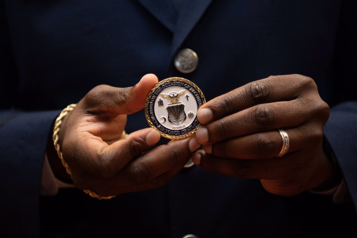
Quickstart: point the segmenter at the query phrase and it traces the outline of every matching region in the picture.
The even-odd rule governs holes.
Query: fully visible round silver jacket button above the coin
[[[198,56],[196,52],[191,49],[182,49],[178,51],[174,64],[178,71],[188,74],[197,68]]]

